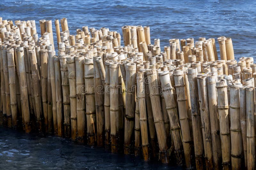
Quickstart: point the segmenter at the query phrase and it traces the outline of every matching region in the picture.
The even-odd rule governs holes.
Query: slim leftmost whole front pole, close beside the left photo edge
[[[12,127],[12,110],[11,110],[8,63],[7,63],[7,47],[8,47],[7,45],[2,45],[4,83],[5,83],[5,101],[6,101],[5,106],[6,106],[7,126]]]

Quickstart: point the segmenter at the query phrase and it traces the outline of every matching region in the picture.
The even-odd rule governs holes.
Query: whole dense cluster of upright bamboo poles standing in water
[[[35,21],[1,20],[1,125],[188,169],[255,168],[256,67],[231,38],[218,57],[213,38],[161,52],[148,26],[123,26],[121,46],[108,28],[54,23],[58,49],[51,20],[41,37]]]

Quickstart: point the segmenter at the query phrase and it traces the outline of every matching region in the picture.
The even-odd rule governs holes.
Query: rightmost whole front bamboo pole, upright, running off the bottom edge
[[[247,169],[255,169],[255,88],[246,88]]]

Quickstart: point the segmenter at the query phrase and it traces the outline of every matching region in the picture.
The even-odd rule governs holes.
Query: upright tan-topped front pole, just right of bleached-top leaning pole
[[[40,50],[40,60],[41,60],[41,90],[42,90],[42,103],[43,103],[43,113],[44,113],[44,131],[48,132],[48,97],[47,97],[47,50]]]

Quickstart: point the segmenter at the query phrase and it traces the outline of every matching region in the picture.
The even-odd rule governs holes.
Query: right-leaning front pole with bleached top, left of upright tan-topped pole
[[[35,49],[28,50],[28,56],[30,61],[30,68],[31,68],[31,78],[32,82],[31,85],[33,86],[34,90],[34,98],[35,98],[35,115],[37,121],[37,127],[39,132],[43,132],[43,124],[41,116],[43,115],[42,111],[42,103],[41,103],[41,84],[40,84],[40,77],[37,68],[37,61],[36,61],[36,52]]]

